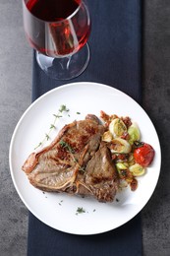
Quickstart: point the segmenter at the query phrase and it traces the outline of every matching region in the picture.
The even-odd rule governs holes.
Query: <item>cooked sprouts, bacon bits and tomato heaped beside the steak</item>
[[[134,191],[138,187],[136,177],[145,173],[154,158],[153,148],[141,142],[141,132],[136,122],[130,117],[100,113],[106,131],[102,141],[107,143],[111,158],[116,165],[120,178],[120,187],[131,186]]]

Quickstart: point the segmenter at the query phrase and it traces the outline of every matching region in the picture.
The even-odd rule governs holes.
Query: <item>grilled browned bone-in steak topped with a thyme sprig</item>
[[[104,126],[94,115],[65,125],[55,140],[23,165],[30,183],[45,191],[90,195],[112,202],[118,176],[101,136]]]

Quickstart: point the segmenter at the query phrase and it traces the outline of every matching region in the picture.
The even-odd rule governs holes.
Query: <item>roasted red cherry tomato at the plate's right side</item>
[[[142,147],[135,149],[134,151],[134,159],[143,167],[148,166],[153,158],[154,150],[149,144],[143,143]]]

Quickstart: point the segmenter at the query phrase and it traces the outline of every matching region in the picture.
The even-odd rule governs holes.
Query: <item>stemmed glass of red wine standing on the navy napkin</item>
[[[89,61],[90,17],[83,0],[23,0],[24,27],[40,68],[51,78],[69,80]]]

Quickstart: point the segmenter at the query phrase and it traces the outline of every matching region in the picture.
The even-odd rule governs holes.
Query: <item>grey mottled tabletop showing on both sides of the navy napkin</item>
[[[142,210],[144,256],[170,255],[170,1],[144,0],[142,106],[157,130],[162,166],[157,187]],[[32,51],[23,29],[22,1],[0,0],[0,254],[27,253],[28,210],[9,169],[14,128],[31,101]],[[135,241],[134,241],[135,242]]]

